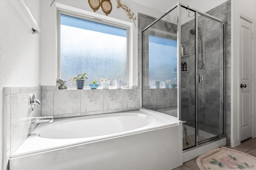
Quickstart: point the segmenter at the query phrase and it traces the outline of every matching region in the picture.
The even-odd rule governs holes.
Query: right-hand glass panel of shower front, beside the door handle
[[[198,15],[197,75],[203,78],[197,86],[199,144],[224,134],[223,32],[223,23]]]

